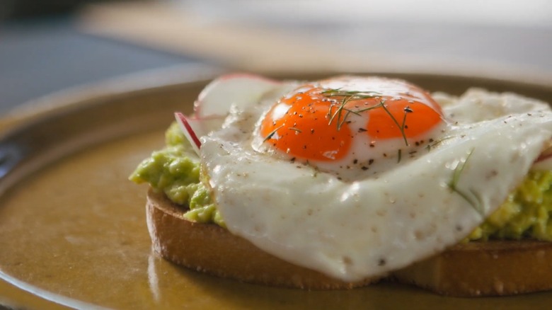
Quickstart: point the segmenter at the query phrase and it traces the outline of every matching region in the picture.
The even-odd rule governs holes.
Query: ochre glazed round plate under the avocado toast
[[[168,263],[151,250],[146,185],[127,180],[163,146],[173,111],[190,113],[214,71],[142,76],[138,87],[52,97],[0,139],[0,305],[64,309],[518,309],[552,303],[552,292],[459,299],[383,283],[302,291],[219,279]],[[317,79],[331,72],[276,77]],[[478,86],[552,102],[551,81],[374,72],[430,91]],[[137,79],[133,79],[137,81]],[[129,85],[128,81],[119,81]],[[69,98],[69,99],[68,99]],[[53,108],[52,108],[53,107]],[[29,109],[28,109],[29,110]],[[33,108],[30,108],[33,110]],[[38,112],[37,112],[38,111]],[[9,122],[8,122],[9,123]]]

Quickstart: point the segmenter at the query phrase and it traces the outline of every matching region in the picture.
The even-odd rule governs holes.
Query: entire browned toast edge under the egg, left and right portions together
[[[173,263],[241,282],[301,289],[351,289],[376,282],[343,282],[276,258],[215,224],[183,217],[184,209],[149,190],[146,216],[154,250]],[[460,243],[388,278],[454,297],[522,294],[552,289],[552,243]]]

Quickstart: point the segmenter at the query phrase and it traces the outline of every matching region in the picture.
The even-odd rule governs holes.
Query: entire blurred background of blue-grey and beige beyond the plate
[[[551,54],[548,0],[0,0],[0,114],[187,64],[552,81]]]

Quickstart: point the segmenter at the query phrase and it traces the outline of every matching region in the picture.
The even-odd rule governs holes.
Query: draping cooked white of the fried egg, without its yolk
[[[495,95],[480,92],[476,100],[469,93],[448,97],[445,113],[485,96],[503,105]],[[229,231],[263,251],[345,281],[402,268],[459,242],[524,178],[552,136],[549,111],[455,125],[447,132],[452,138],[417,161],[345,183],[251,149],[268,102],[234,111],[222,130],[202,137],[202,164],[219,211]],[[458,188],[476,193],[478,207],[447,185],[469,154]]]

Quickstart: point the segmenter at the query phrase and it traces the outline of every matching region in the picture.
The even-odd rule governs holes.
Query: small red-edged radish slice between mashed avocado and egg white
[[[180,125],[180,130],[197,155],[200,155],[201,141],[200,137],[206,136],[209,132],[216,130],[222,126],[224,117],[206,117],[206,118],[191,118],[186,117],[180,112],[174,113],[176,122]]]

